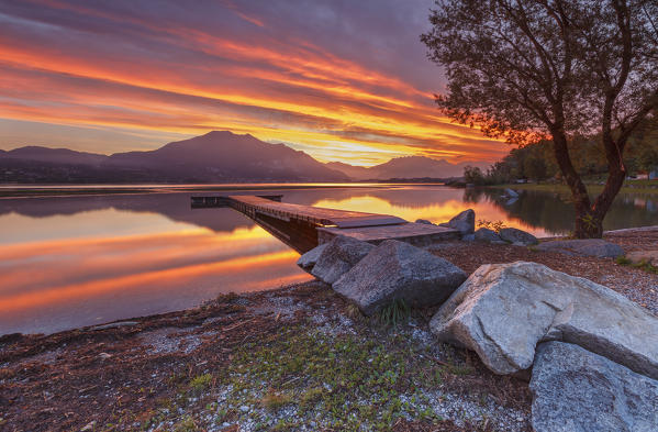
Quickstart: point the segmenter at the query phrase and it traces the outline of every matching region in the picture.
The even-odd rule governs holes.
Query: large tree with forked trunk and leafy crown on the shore
[[[600,237],[628,137],[658,107],[658,0],[437,0],[430,22],[421,40],[446,71],[440,110],[509,143],[550,140],[575,235]],[[576,135],[598,136],[605,154],[593,200],[569,154]]]

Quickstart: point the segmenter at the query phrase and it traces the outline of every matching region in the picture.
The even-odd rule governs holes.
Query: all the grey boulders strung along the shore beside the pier
[[[467,210],[446,225],[462,240],[537,243],[516,229],[475,231],[473,222]],[[601,240],[537,248],[623,255]],[[653,263],[653,255],[637,255]],[[410,244],[375,246],[346,236],[302,255],[298,265],[366,314],[397,300],[439,304],[430,322],[439,341],[475,351],[495,374],[531,374],[536,432],[658,431],[658,318],[604,286],[525,262],[483,265],[467,278]]]

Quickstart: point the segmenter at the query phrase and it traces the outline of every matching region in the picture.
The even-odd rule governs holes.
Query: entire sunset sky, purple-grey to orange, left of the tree
[[[510,148],[439,115],[432,0],[1,0],[0,148],[111,154],[212,130],[322,162]]]

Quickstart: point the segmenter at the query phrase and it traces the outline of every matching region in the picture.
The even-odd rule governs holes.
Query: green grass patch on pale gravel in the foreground
[[[394,319],[392,312],[390,317]],[[436,389],[445,374],[473,370],[443,366],[416,348],[408,336],[391,332],[379,340],[331,335],[306,325],[282,328],[236,353],[222,378],[231,388],[226,409],[248,406],[249,412],[242,416],[253,417],[266,430],[290,425],[264,418],[258,407],[291,407],[293,416],[342,431],[387,431],[400,418],[438,420],[424,390]],[[286,392],[274,390],[281,388]]]

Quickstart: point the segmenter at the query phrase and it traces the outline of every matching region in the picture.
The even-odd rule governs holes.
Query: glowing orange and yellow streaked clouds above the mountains
[[[111,8],[38,3],[92,23],[116,22],[130,38],[92,24],[69,30],[65,21],[57,32],[66,44],[10,23],[0,30],[5,119],[189,136],[231,130],[297,145],[321,160],[360,165],[409,154],[492,160],[506,151],[438,115],[431,91],[413,81],[302,37],[275,37],[267,19],[234,2],[222,4],[260,33],[223,34],[175,16],[156,22]]]

